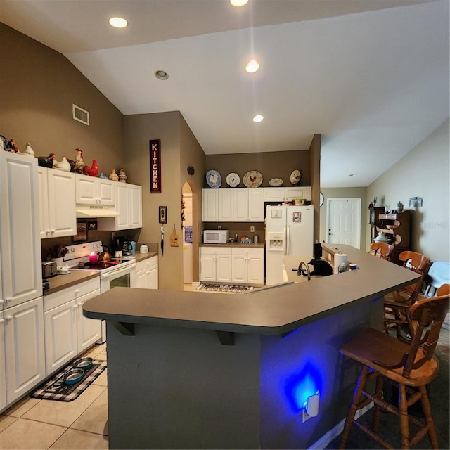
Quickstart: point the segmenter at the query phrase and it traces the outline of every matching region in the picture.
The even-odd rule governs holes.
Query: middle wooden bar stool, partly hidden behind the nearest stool
[[[428,267],[428,257],[421,253],[406,250],[399,255],[400,261],[406,269],[420,274],[420,281],[413,283],[406,288],[396,290],[384,297],[385,302],[385,324],[386,333],[394,329],[398,339],[404,339],[402,327],[407,326],[411,336],[411,321],[409,320],[408,310],[416,302],[422,287]]]

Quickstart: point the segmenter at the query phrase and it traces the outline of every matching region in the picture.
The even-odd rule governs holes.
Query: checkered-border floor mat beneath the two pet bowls
[[[92,366],[84,371],[83,378],[78,383],[66,385],[63,381],[63,375],[67,371],[70,371],[70,369],[75,368],[73,365],[74,361],[68,364],[68,366],[65,366],[62,371],[58,372],[50,380],[47,380],[39,386],[37,390],[32,392],[31,397],[35,399],[60,401],[75,400],[106,368],[106,361],[94,359]]]

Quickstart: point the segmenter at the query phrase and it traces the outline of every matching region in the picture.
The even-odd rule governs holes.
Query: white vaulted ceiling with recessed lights
[[[179,110],[206,154],[322,134],[323,187],[368,186],[449,117],[449,0],[0,0],[0,21],[124,115]]]

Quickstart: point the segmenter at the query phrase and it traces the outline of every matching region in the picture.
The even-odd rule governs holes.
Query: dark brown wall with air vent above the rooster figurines
[[[0,134],[21,151],[55,153],[110,174],[124,163],[123,115],[62,54],[0,23]],[[90,113],[90,126],[72,119],[72,103]],[[133,176],[129,182],[133,182]]]

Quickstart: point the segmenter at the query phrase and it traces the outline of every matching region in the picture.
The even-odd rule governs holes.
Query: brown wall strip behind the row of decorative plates
[[[290,174],[295,169],[302,170],[302,185],[311,186],[309,176],[309,150],[293,150],[286,152],[233,153],[231,155],[207,155],[205,170],[217,170],[221,175],[221,188],[228,188],[226,176],[235,172],[240,177],[239,187],[245,187],[243,176],[250,170],[262,174],[262,185],[268,187],[269,180],[281,178],[283,186],[291,186]],[[206,179],[203,186],[207,188]]]

